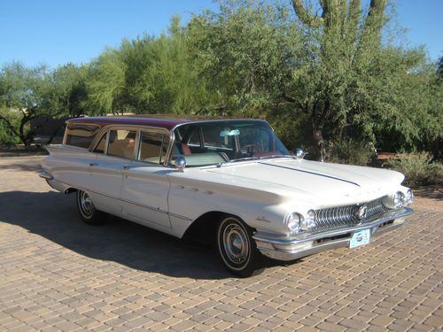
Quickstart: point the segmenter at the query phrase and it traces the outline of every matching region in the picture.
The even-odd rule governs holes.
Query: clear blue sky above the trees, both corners
[[[88,63],[123,38],[166,32],[172,15],[186,23],[217,7],[212,0],[0,0],[0,66]],[[424,45],[432,60],[443,56],[442,12],[443,0],[397,1],[409,44]]]

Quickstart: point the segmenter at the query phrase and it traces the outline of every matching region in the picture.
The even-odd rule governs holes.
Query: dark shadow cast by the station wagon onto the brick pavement
[[[195,279],[232,277],[211,246],[182,241],[112,216],[100,226],[84,224],[77,215],[74,195],[1,192],[0,221],[26,228],[83,256],[137,270]]]

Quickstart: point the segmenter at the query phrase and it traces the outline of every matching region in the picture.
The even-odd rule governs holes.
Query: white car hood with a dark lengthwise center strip
[[[280,158],[232,163],[206,172],[220,174],[239,186],[244,181],[255,183],[261,190],[311,202],[317,199],[328,205],[385,196],[404,179],[403,174],[385,169]]]

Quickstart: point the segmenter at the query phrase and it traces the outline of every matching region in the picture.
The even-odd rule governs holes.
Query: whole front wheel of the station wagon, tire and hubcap
[[[259,272],[261,254],[252,235],[252,228],[234,216],[224,217],[218,224],[217,249],[221,260],[230,272],[241,277]]]

